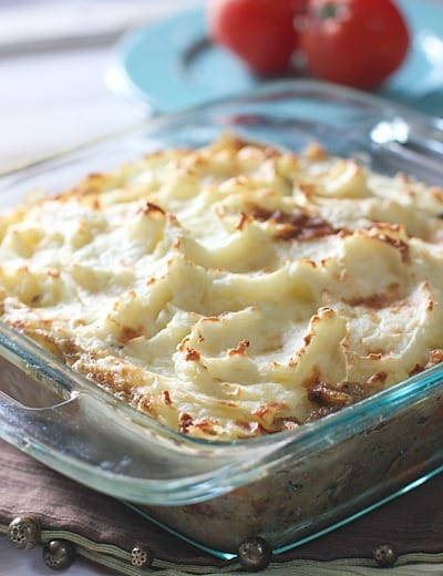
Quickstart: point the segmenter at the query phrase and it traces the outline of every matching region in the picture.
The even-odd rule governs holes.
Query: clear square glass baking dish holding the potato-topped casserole
[[[4,174],[1,205],[224,131],[296,152],[315,141],[377,172],[441,185],[439,122],[339,86],[276,82]],[[162,426],[3,325],[0,385],[1,438],[227,558],[253,535],[275,553],[300,545],[443,466],[442,366],[293,431],[234,442]]]

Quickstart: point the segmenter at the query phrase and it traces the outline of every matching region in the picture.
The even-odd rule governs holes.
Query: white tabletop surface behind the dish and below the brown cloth
[[[113,42],[135,23],[204,1],[0,0],[0,171],[136,123],[136,112],[111,94],[103,81]],[[443,574],[441,566],[411,570],[401,574]],[[340,573],[332,566],[320,572],[362,574]],[[40,547],[18,552],[0,537],[0,576],[49,574]],[[78,559],[68,574],[109,572]]]

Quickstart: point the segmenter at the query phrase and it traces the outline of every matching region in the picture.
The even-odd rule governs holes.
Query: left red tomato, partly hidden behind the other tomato
[[[258,74],[281,72],[295,47],[293,18],[307,0],[210,0],[209,38]]]

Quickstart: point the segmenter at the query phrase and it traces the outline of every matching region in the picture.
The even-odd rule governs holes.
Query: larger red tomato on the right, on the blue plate
[[[410,38],[391,0],[310,0],[300,44],[315,76],[372,90],[403,62]]]

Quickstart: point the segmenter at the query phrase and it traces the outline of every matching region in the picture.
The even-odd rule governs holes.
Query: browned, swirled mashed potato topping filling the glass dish
[[[292,429],[443,359],[443,193],[229,135],[0,219],[0,317],[186,434]]]

